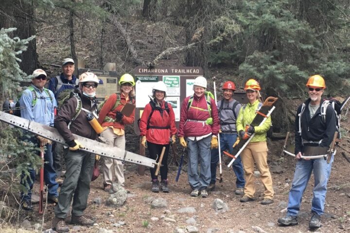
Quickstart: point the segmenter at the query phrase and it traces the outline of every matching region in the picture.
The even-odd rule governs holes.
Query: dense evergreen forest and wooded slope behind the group
[[[307,97],[310,75],[325,77],[326,95],[349,94],[349,13],[350,0],[1,0],[0,103],[36,68],[57,75],[66,57],[95,69],[113,62],[120,74],[199,66],[211,90],[212,76],[240,88],[257,79],[280,98],[274,131],[290,131],[296,109],[288,103]],[[40,166],[20,131],[0,128],[2,174]]]

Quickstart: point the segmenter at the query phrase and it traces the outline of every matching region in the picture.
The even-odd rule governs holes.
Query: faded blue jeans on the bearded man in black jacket
[[[294,173],[292,188],[289,191],[289,200],[287,215],[297,216],[300,210],[300,203],[306,185],[309,182],[312,171],[314,170],[315,185],[313,190],[313,200],[311,211],[317,215],[324,213],[324,202],[326,199],[327,182],[331,175],[331,168],[334,156],[331,162],[327,164],[325,159],[297,160]]]

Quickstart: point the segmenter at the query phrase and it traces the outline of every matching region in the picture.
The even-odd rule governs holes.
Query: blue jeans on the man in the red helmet
[[[221,153],[224,150],[228,150],[230,154],[233,152],[233,144],[237,140],[237,133],[220,133],[220,150]],[[213,149],[211,150],[211,161],[210,161],[210,172],[211,172],[211,180],[210,183],[216,182],[216,167],[219,162],[219,150]],[[241,156],[233,162],[232,165],[233,172],[236,174],[236,187],[243,188],[245,186],[244,180],[244,170],[241,162]]]

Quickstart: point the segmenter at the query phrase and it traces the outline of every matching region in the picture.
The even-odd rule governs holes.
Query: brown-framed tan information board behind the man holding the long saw
[[[86,69],[79,68],[78,75],[82,73],[91,72],[97,75],[97,77],[102,81],[98,84],[96,88],[96,99],[105,100],[106,97],[118,91],[118,74],[117,71],[112,70],[100,70],[100,69]]]

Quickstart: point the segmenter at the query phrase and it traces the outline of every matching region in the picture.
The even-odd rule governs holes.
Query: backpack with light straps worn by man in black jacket
[[[340,115],[341,115],[341,111],[343,110],[343,107],[345,105],[345,103],[350,99],[350,97],[345,100],[343,103],[341,103],[339,100],[335,99],[335,98],[329,98],[329,99],[324,99],[322,105],[321,105],[321,116],[322,116],[322,121],[324,124],[326,124],[326,112],[327,112],[327,107],[328,105],[331,105],[334,113],[335,113],[335,126],[336,126],[336,131],[338,132],[338,139],[341,138],[341,134],[340,134]],[[301,115],[303,114],[304,110],[306,108],[306,104],[302,103],[301,105],[301,110],[299,113],[299,135],[301,136]]]

